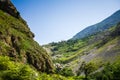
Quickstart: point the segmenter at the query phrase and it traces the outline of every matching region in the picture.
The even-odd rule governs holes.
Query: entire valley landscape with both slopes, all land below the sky
[[[120,80],[120,10],[73,38],[40,46],[0,0],[0,80]]]

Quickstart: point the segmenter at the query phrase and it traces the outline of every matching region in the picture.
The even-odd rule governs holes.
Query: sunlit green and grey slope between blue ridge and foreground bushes
[[[50,43],[44,47],[52,51],[55,64],[71,68],[75,74],[83,63],[94,63],[100,69],[107,62],[120,60],[120,23],[83,39]]]

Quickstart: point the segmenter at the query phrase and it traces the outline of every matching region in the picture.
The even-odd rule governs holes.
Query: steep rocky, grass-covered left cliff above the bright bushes
[[[0,55],[28,63],[42,72],[52,72],[50,56],[33,37],[10,0],[0,0]]]

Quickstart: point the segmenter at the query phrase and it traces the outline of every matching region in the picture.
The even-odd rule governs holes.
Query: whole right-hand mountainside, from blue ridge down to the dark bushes
[[[83,80],[119,80],[120,10],[80,34],[79,38],[43,45],[56,71]]]

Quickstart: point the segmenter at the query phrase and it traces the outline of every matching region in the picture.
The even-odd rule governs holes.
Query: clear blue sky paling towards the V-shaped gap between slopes
[[[11,0],[43,45],[72,38],[120,9],[120,0]]]

